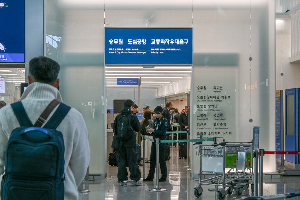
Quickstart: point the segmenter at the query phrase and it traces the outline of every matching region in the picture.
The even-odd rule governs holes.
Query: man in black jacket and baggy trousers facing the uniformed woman
[[[140,123],[137,116],[133,115],[134,102],[131,99],[127,99],[124,102],[124,108],[120,111],[120,114],[116,116],[114,121],[113,132],[116,137],[113,138],[112,147],[116,148],[116,159],[118,165],[118,180],[121,182],[121,186],[127,186],[128,172],[127,166],[130,171],[131,186],[140,186],[141,183],[138,180],[141,179],[141,171],[137,163],[137,149],[136,149],[136,132],[140,130]],[[132,127],[132,137],[127,141],[118,139],[118,122],[122,115],[131,115],[130,125]],[[134,153],[133,153],[134,152]]]

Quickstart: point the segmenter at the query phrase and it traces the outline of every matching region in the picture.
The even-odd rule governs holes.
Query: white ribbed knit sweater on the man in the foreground
[[[57,88],[49,84],[34,82],[25,90],[20,101],[30,121],[34,124],[53,99],[62,102]],[[54,111],[50,113],[48,119]],[[8,138],[11,131],[19,126],[11,106],[2,107],[0,109],[0,174],[3,172]],[[57,130],[63,134],[65,143],[65,199],[78,199],[77,187],[84,179],[90,159],[88,132],[81,113],[71,108],[58,125]]]

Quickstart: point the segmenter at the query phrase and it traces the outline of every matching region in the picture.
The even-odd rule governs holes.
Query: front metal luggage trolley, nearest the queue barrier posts
[[[202,143],[194,143],[196,145],[196,155],[200,158],[199,184],[194,188],[194,195],[201,197],[203,189],[201,185],[220,186],[216,189],[219,200],[225,199],[226,193],[232,194],[233,189],[236,189],[236,194],[242,194],[243,188],[246,187],[244,183],[234,182],[235,180],[245,177],[246,168],[246,150],[244,147],[237,148],[236,156],[236,170],[235,172],[225,173],[225,142],[214,145],[202,145]],[[211,147],[213,146],[213,147]],[[220,146],[220,147],[217,147]],[[201,180],[202,172],[215,173],[216,176]],[[222,175],[217,175],[222,174]],[[227,190],[225,188],[228,187]]]

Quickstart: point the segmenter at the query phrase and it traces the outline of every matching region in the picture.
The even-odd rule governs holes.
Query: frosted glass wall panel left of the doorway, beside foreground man
[[[80,111],[87,125],[89,174],[105,178],[104,0],[96,5],[46,1],[45,15],[45,38],[51,36],[57,44],[46,44],[45,55],[61,65],[63,101]]]

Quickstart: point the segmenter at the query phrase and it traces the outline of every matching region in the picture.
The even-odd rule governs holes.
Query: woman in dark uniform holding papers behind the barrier
[[[168,121],[164,117],[164,111],[161,106],[157,106],[154,109],[154,112],[157,118],[153,122],[153,127],[148,129],[148,132],[152,132],[153,139],[159,138],[161,140],[165,139],[166,130],[168,126]],[[161,178],[159,182],[163,182],[167,180],[167,165],[165,161],[165,150],[166,143],[160,143],[159,145],[159,165],[161,167]],[[155,173],[155,165],[156,165],[156,144],[152,142],[151,152],[150,152],[150,170],[146,179],[143,181],[153,181],[154,173]],[[158,167],[158,166],[157,166]]]

